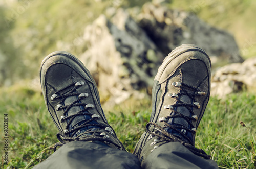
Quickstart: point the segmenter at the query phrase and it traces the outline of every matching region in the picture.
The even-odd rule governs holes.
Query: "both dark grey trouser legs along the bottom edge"
[[[140,164],[139,159],[128,152],[101,144],[72,141],[64,144],[46,161],[34,168],[218,168],[213,160],[201,158],[178,142],[169,142],[153,151]]]

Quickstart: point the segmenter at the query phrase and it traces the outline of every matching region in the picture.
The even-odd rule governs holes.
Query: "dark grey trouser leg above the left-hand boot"
[[[92,142],[64,144],[34,168],[141,168],[138,158],[126,151]]]

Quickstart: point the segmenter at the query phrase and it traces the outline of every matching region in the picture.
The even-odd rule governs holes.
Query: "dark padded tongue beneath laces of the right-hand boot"
[[[180,101],[182,101],[183,103],[185,104],[191,104],[192,103],[192,100],[189,98],[189,96],[187,95],[181,95],[180,98],[179,98]],[[177,102],[176,104],[178,104],[179,102]],[[189,110],[184,107],[184,106],[178,106],[178,107],[174,107],[174,110],[183,114],[184,116],[190,116],[190,112]],[[172,112],[171,115],[175,115],[176,113]],[[192,141],[193,140],[193,137],[192,137],[192,134],[191,132],[187,131],[186,128],[191,128],[189,123],[187,122],[187,120],[185,120],[184,118],[169,118],[168,124],[172,124],[172,125],[175,125],[175,126],[180,126],[181,129],[178,128],[178,130],[185,134],[186,136],[189,137],[189,139]],[[184,138],[179,132],[167,127],[165,128],[165,130],[169,133],[172,133],[172,134],[175,134],[175,135],[178,135],[178,136],[181,136],[182,138]],[[185,139],[185,138],[184,138]],[[190,142],[190,141],[189,141]]]

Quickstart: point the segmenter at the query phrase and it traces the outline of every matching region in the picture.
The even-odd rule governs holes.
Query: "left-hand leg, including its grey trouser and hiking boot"
[[[95,81],[75,56],[63,51],[48,55],[40,81],[63,146],[35,168],[140,168],[108,124]]]

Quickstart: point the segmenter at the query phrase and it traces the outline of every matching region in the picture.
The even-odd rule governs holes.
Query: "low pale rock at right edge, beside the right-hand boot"
[[[224,98],[243,89],[256,91],[256,57],[223,66],[212,74],[211,95]]]

